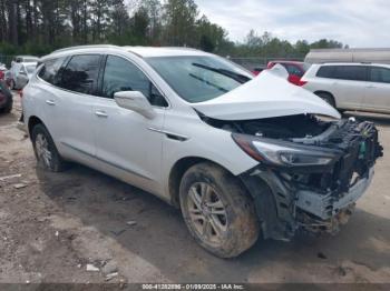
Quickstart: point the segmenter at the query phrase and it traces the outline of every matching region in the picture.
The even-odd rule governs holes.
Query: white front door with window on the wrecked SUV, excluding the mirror
[[[131,61],[108,56],[103,73],[100,98],[92,107],[97,158],[111,167],[116,175],[145,190],[160,187],[160,162],[167,103],[156,87]],[[117,106],[114,94],[140,91],[149,100],[153,119]],[[158,191],[158,190],[157,190]]]

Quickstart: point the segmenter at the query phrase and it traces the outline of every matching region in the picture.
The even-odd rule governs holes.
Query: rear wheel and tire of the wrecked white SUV
[[[31,131],[31,141],[38,165],[51,172],[61,172],[66,163],[58,153],[56,144],[43,124],[37,124]]]

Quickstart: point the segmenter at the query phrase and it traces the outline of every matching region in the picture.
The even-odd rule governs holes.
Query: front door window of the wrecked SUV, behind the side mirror
[[[123,58],[109,56],[103,79],[103,97],[113,99],[114,94],[120,91],[140,91],[152,106],[168,106],[157,88],[135,64]]]

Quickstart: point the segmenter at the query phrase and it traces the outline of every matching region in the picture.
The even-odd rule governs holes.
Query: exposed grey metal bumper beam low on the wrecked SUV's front
[[[331,219],[338,215],[340,211],[354,204],[364,194],[371,184],[373,173],[374,170],[371,168],[367,178],[358,181],[339,199],[335,199],[332,192],[323,195],[312,191],[300,190],[296,192],[298,200],[295,205],[300,210],[309,212],[322,220]]]

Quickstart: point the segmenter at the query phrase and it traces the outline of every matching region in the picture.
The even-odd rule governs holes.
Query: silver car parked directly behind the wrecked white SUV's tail
[[[9,86],[11,90],[20,90],[29,82],[37,69],[37,62],[16,62],[10,69]]]

